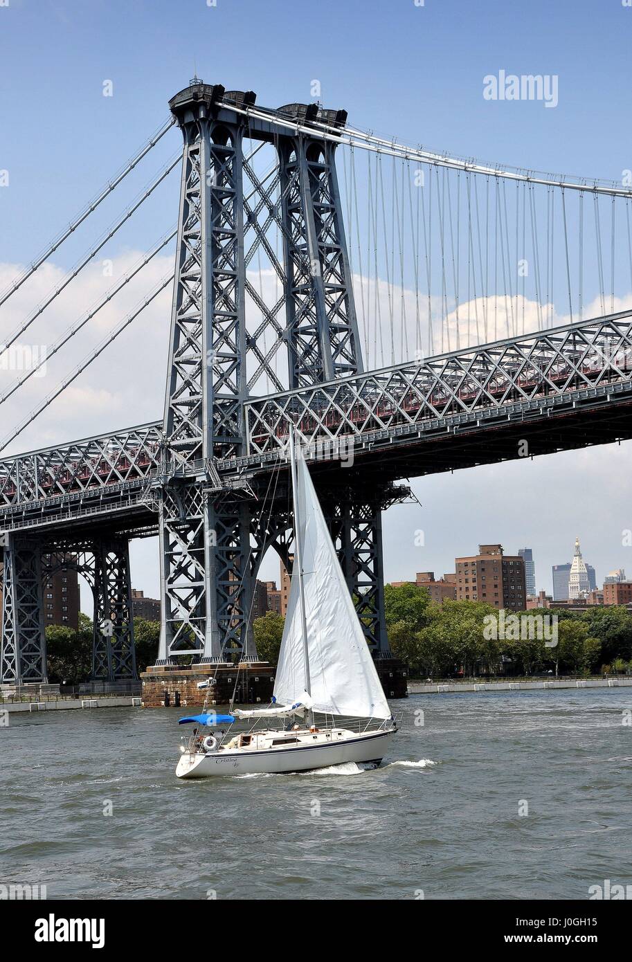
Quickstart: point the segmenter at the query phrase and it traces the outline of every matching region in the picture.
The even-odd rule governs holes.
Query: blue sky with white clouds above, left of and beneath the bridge
[[[481,161],[619,180],[632,167],[629,50],[632,8],[620,0],[0,0],[0,290],[57,236],[164,122],[166,102],[196,71],[226,89],[254,89],[265,106],[312,97],[350,121],[403,142]],[[486,100],[483,79],[504,69],[555,75],[558,103]],[[112,96],[104,96],[110,83]],[[35,312],[84,250],[173,158],[177,131],[0,308],[0,340]],[[34,330],[51,344],[175,226],[177,172],[82,272]],[[114,201],[114,198],[113,198]],[[172,270],[152,261],[75,339],[0,406],[5,436],[74,364]],[[104,273],[112,260],[112,276]],[[621,291],[622,304],[632,291]],[[632,303],[632,301],[630,302]],[[162,415],[169,296],[165,291],[8,448],[15,452]],[[74,353],[73,353],[74,352]],[[12,380],[0,371],[0,389]],[[530,546],[539,588],[570,560],[576,536],[597,582],[632,575],[630,443],[412,479],[418,504],[384,519],[387,580],[454,569],[479,543]],[[423,546],[413,532],[424,532]],[[417,539],[417,542],[419,539]],[[132,544],[135,587],[156,596],[158,546]],[[278,577],[266,559],[262,574]],[[83,603],[86,603],[84,595]]]

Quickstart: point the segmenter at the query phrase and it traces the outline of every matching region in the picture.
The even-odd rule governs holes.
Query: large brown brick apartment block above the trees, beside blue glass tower
[[[459,600],[525,611],[524,559],[519,555],[505,555],[501,544],[479,544],[478,554],[455,558],[455,568]]]

